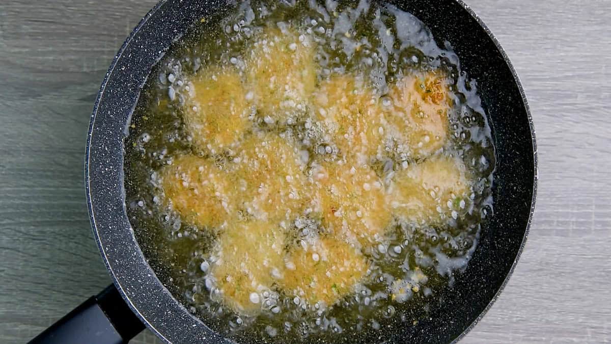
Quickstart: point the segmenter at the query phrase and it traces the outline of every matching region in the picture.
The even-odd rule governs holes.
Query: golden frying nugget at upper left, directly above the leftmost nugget
[[[197,148],[211,154],[232,149],[251,127],[249,103],[240,75],[230,67],[210,67],[192,80],[185,123]]]

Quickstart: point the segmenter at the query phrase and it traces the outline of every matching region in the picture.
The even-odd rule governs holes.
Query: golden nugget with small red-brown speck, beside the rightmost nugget
[[[392,215],[384,185],[373,170],[357,164],[324,163],[314,178],[327,230],[364,246],[381,239]]]

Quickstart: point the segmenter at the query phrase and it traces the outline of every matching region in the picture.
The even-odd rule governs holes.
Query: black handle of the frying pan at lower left
[[[144,330],[114,285],[76,307],[29,344],[121,344]]]

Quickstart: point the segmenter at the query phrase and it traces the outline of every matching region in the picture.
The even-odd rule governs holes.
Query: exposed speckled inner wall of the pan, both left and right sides
[[[439,45],[443,46],[446,40],[452,44],[463,69],[479,81],[483,106],[494,128],[496,212],[482,231],[474,258],[453,288],[445,292],[442,302],[432,307],[430,320],[404,327],[386,338],[394,342],[449,342],[486,308],[519,252],[532,203],[532,135],[521,93],[507,62],[463,7],[453,1],[394,4],[417,15],[433,31]],[[179,32],[185,32],[194,20],[215,8],[211,4],[175,1],[153,13],[109,76],[90,143],[88,187],[101,250],[134,307],[156,331],[173,341],[185,341],[185,336],[189,342],[210,340],[213,334],[164,290],[134,241],[122,195],[117,193],[122,185],[122,138],[139,87],[157,59]]]

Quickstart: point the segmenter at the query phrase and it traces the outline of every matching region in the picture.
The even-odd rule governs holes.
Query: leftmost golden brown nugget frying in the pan
[[[230,179],[211,160],[185,155],[160,173],[166,202],[183,220],[209,229],[225,224],[235,206]]]

